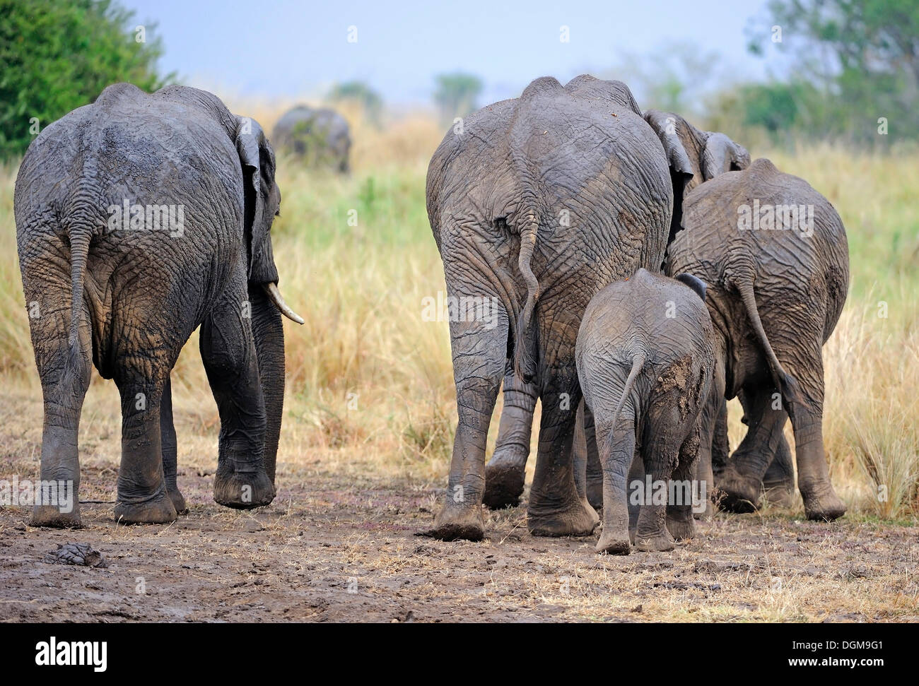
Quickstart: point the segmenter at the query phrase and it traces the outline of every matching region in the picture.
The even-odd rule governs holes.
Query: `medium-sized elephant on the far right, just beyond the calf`
[[[738,208],[752,207],[754,200],[761,208],[812,206],[812,235],[806,235],[806,224],[803,231],[742,231]],[[764,479],[791,488],[782,433],[790,417],[808,518],[842,516],[845,504],[830,483],[823,452],[821,354],[848,289],[848,242],[839,215],[806,181],[764,159],[699,186],[686,196],[683,212],[686,228],[667,251],[666,272],[690,272],[709,285],[716,337],[699,478],[711,483],[710,436],[722,421],[724,399],[738,396],[749,429],[715,478],[722,507],[752,510]]]

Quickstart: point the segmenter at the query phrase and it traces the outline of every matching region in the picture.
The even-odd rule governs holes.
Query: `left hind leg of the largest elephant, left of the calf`
[[[481,541],[484,536],[485,446],[507,352],[507,316],[501,315],[491,329],[481,321],[450,321],[459,422],[447,495],[434,528],[424,532],[443,541]]]

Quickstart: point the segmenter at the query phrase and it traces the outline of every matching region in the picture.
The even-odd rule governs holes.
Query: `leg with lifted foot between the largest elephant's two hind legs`
[[[485,467],[485,493],[482,500],[492,510],[516,507],[520,501],[527,470],[536,396],[536,386],[518,379],[513,365],[508,364],[498,438],[494,455]]]

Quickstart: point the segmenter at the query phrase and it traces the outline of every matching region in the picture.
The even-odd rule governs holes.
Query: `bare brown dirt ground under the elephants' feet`
[[[36,413],[28,395],[0,405],[0,478],[37,478],[40,426],[21,420]],[[917,529],[864,518],[719,514],[674,551],[601,557],[595,537],[530,536],[521,506],[489,513],[482,543],[443,543],[415,535],[441,483],[282,456],[278,498],[238,512],[211,500],[213,467],[198,465],[215,460],[180,447],[191,511],[126,527],[111,519],[116,427],[117,416],[86,427],[96,441],[81,436],[81,500],[105,501],[81,505],[84,528],[31,528],[27,509],[0,510],[0,620],[919,621]],[[64,543],[92,545],[108,568],[45,561]]]

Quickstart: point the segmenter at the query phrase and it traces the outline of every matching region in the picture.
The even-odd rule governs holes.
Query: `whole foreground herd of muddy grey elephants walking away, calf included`
[[[302,133],[304,116],[282,118],[276,142]],[[346,128],[336,140],[344,162],[333,165],[346,171]],[[15,214],[43,481],[78,487],[95,365],[121,396],[116,519],[186,511],[170,373],[200,327],[221,419],[214,500],[273,500],[281,315],[302,322],[278,291],[276,165],[253,119],[185,86],[111,85],[32,142]],[[496,326],[450,318],[459,422],[425,534],[480,540],[482,504],[516,504],[537,399],[534,535],[593,534],[602,510],[597,552],[667,550],[713,506],[789,500],[789,418],[807,516],[845,512],[823,452],[821,350],[845,302],[848,252],[834,208],[805,181],[751,163],[724,134],[642,113],[621,82],[545,77],[447,133],[426,204],[448,294],[500,308]],[[748,430],[729,456],[734,397]],[[79,507],[37,503],[32,523],[79,525]]]

